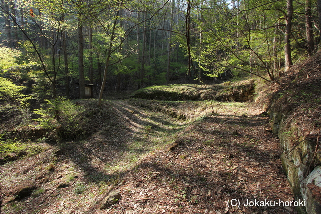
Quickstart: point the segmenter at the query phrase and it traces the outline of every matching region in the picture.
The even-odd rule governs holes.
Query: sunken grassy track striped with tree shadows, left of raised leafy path
[[[133,165],[154,147],[155,142],[151,142],[150,138],[174,134],[185,127],[184,124],[176,124],[175,119],[171,122],[164,119],[164,115],[150,116],[124,103],[115,103],[112,108],[117,115],[111,115],[113,125],[106,122],[106,127],[101,127],[88,139],[55,145],[59,150],[56,153],[58,160],[63,162],[68,159],[80,172],[89,173],[85,176],[86,182],[99,184],[117,179],[121,173],[108,174],[106,171],[118,164],[121,167]]]

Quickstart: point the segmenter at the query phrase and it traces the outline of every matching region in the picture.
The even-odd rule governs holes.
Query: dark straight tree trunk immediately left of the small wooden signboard
[[[85,98],[85,74],[84,74],[84,54],[83,54],[83,25],[82,20],[78,18],[78,70],[79,70],[79,95]]]

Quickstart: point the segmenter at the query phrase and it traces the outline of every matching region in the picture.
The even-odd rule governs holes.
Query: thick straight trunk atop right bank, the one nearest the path
[[[293,0],[286,0],[286,19],[285,19],[285,35],[284,35],[284,56],[285,71],[288,71],[293,65],[291,54],[291,33],[292,33],[292,17],[293,17]]]

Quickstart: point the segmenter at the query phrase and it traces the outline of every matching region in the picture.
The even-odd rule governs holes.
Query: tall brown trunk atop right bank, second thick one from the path
[[[307,53],[311,56],[314,53],[314,39],[313,39],[313,22],[312,22],[312,4],[311,0],[305,0],[305,29],[307,41]]]

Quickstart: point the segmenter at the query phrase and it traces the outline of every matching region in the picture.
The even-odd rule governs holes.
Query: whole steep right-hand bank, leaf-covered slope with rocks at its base
[[[321,212],[321,53],[294,66],[272,96],[272,128],[281,140],[282,164],[307,213]],[[305,210],[304,210],[305,211]]]

